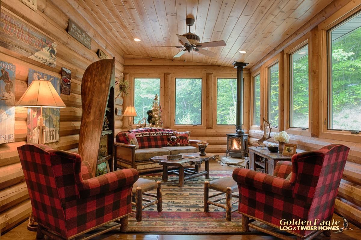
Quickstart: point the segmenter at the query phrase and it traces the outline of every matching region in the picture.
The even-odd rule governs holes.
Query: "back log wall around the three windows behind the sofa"
[[[236,78],[236,69],[210,64],[183,62],[158,58],[135,58],[124,56],[124,76],[130,82],[130,96],[124,100],[124,106],[134,105],[133,96],[134,78],[160,78],[162,119],[164,128],[176,131],[191,131],[191,139],[208,140],[207,151],[221,153],[226,151],[226,133],[234,133],[234,125],[217,125],[217,78]],[[202,124],[201,126],[182,126],[174,124],[175,88],[174,78],[204,78],[202,99]],[[244,129],[249,128],[249,94],[250,77],[248,69],[244,69]],[[149,106],[151,108],[151,106]],[[128,118],[124,119],[124,126],[128,126]],[[134,127],[136,127],[134,125]],[[126,130],[126,129],[123,129]]]

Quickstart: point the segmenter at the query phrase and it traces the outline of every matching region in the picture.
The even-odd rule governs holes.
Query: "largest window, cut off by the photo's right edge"
[[[329,34],[329,128],[361,130],[361,14]]]

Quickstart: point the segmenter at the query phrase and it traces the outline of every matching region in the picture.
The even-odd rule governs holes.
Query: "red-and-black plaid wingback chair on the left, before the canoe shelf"
[[[25,144],[18,153],[38,222],[37,238],[72,239],[113,221],[118,224],[108,231],[121,224],[125,230],[132,186],[139,178],[135,169],[93,177],[79,154],[40,144]]]

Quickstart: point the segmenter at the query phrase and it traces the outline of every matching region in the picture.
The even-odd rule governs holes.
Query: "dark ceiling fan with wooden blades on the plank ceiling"
[[[186,24],[189,27],[189,32],[185,33],[183,35],[178,35],[177,37],[179,38],[179,42],[183,45],[183,46],[152,46],[152,47],[177,47],[177,48],[184,48],[182,49],[179,53],[175,54],[173,56],[173,58],[178,58],[180,56],[182,56],[184,53],[186,53],[188,51],[188,53],[190,53],[191,51],[196,51],[197,53],[209,56],[209,57],[214,57],[217,54],[213,53],[211,51],[205,50],[203,49],[203,47],[221,47],[221,46],[226,46],[226,42],[221,40],[221,41],[214,41],[214,42],[199,42],[199,36],[197,36],[195,33],[191,33],[191,26],[193,26],[194,24],[194,19],[193,18],[186,18]]]

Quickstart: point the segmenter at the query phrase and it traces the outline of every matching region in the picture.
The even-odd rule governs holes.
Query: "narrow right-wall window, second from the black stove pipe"
[[[278,63],[268,68],[269,103],[268,119],[271,126],[278,126]]]

